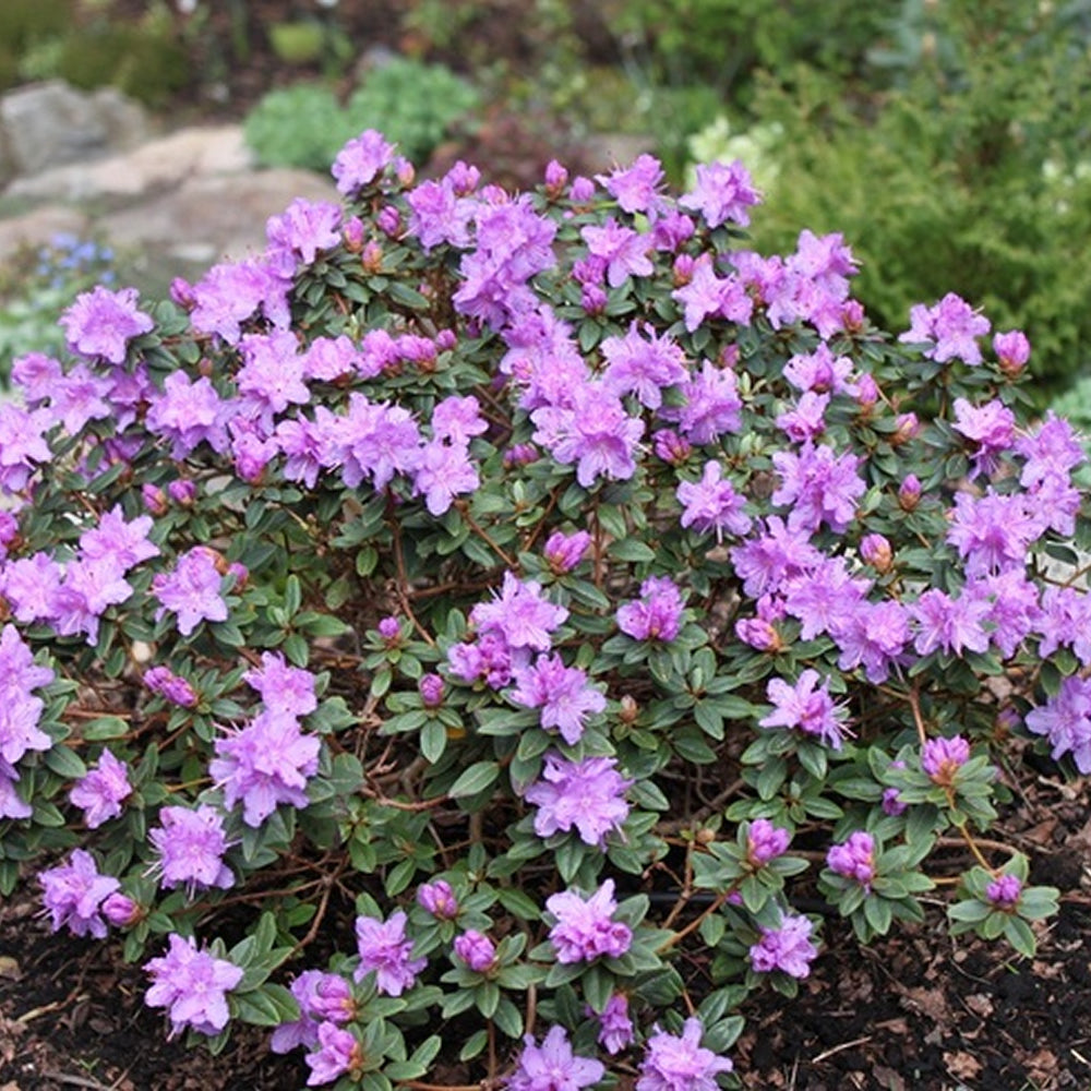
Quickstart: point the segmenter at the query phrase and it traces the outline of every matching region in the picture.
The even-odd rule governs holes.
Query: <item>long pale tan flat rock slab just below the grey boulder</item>
[[[16,178],[5,193],[35,201],[129,197],[175,189],[192,178],[242,173],[251,166],[239,125],[193,127],[98,163]]]

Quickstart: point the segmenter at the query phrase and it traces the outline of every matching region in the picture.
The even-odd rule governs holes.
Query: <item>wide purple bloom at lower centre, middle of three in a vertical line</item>
[[[542,838],[573,828],[585,844],[602,848],[607,835],[628,817],[625,792],[633,781],[618,772],[613,757],[570,762],[546,755],[542,779],[527,789],[526,800],[538,807],[535,832]]]

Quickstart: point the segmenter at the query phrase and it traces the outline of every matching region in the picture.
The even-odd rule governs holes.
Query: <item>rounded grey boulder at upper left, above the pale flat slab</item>
[[[0,98],[12,172],[33,175],[132,147],[147,135],[144,111],[113,89],[84,94],[60,80]]]

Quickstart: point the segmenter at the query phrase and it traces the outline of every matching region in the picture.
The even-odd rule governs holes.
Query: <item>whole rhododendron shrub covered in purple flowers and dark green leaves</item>
[[[1028,751],[1091,770],[1091,525],[1021,335],[875,328],[740,164],[334,176],[15,365],[3,891],[369,1091],[728,1083],[753,990],[942,898],[1032,951],[981,835]]]

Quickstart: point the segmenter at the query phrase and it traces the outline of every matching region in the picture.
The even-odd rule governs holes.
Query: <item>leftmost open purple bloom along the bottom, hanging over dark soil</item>
[[[171,1034],[192,1027],[201,1034],[218,1034],[228,1022],[227,993],[242,981],[242,968],[199,950],[190,936],[171,933],[170,948],[144,969],[152,978],[145,1003],[169,1008]]]

